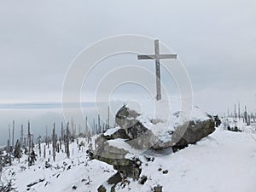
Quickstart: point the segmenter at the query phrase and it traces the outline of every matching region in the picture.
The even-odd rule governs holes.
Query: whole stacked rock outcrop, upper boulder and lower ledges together
[[[173,113],[174,118],[172,119],[177,119],[179,113]],[[190,119],[183,125],[172,123],[176,127],[171,127],[172,129],[167,127],[165,130],[162,129],[162,126],[169,125],[166,119],[148,118],[148,123],[145,123],[142,121],[142,115],[127,106],[120,108],[115,117],[119,127],[108,130],[101,137],[98,137],[96,149],[89,152],[91,159],[106,162],[113,165],[113,168],[117,170],[117,173],[108,179],[108,184],[112,186],[111,190],[113,191],[116,184],[126,177],[135,180],[140,178],[142,161],[137,154],[142,154],[148,149],[160,151],[166,148],[171,148],[172,151],[176,152],[189,144],[195,144],[215,131],[214,119],[207,116]],[[155,131],[154,129],[160,130]],[[144,183],[147,179],[144,180],[138,182]],[[98,191],[105,190],[103,185],[98,189]],[[154,189],[154,191],[161,190],[160,186]]]

